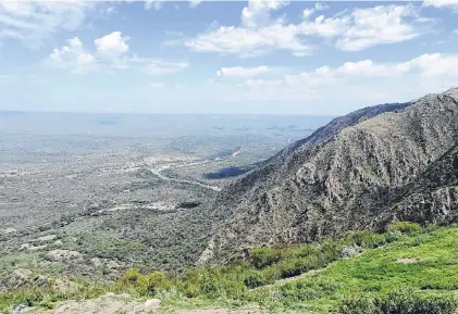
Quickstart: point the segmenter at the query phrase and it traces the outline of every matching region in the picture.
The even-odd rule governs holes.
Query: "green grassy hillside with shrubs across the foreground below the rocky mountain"
[[[127,271],[110,285],[76,281],[74,289],[25,287],[0,296],[0,309],[52,307],[107,291],[159,298],[165,307],[242,306],[301,313],[455,313],[458,227],[398,223],[384,234],[351,233],[320,244],[255,249],[225,266],[180,276]]]

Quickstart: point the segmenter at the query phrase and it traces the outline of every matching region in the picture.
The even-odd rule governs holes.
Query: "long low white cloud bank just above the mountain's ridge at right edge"
[[[362,105],[408,101],[422,93],[456,87],[458,73],[455,68],[458,68],[458,54],[423,54],[399,63],[362,60],[274,79],[214,84],[212,97],[227,102],[295,103],[296,112],[306,108],[304,112],[313,114],[343,114]],[[332,111],[327,104],[334,104]],[[282,112],[281,109],[273,111]]]

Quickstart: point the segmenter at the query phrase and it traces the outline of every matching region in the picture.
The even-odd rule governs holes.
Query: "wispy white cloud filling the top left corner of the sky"
[[[78,1],[0,1],[0,41],[18,39],[28,48],[39,48],[60,30],[75,30],[97,5]]]

